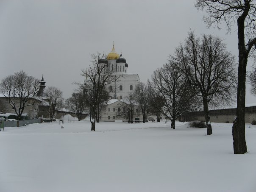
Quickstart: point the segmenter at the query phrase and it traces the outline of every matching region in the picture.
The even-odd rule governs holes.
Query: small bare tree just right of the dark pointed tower
[[[46,109],[50,117],[50,122],[53,121],[53,117],[56,112],[61,109],[63,97],[62,91],[57,87],[50,86],[45,90],[45,103],[47,105]]]

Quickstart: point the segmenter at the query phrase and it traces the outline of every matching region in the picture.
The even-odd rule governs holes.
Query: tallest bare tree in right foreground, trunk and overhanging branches
[[[203,17],[208,26],[224,22],[228,31],[237,22],[238,36],[238,86],[237,116],[233,124],[233,147],[235,154],[247,152],[245,141],[245,85],[248,57],[256,43],[256,5],[253,0],[197,0],[195,7],[206,8],[208,16]],[[249,41],[245,42],[245,37]]]

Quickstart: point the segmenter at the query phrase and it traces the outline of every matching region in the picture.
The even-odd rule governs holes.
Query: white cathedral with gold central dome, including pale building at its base
[[[119,55],[114,48],[108,54],[107,58],[98,60],[98,64],[108,64],[109,69],[113,70],[113,75],[121,75],[118,81],[113,82],[108,88],[110,91],[110,98],[105,109],[100,109],[100,121],[126,121],[125,117],[120,115],[122,111],[122,104],[125,98],[131,92],[134,92],[137,84],[140,82],[138,74],[128,73],[128,64],[123,58],[122,53]],[[134,106],[134,118],[142,120],[142,113],[139,106]]]

